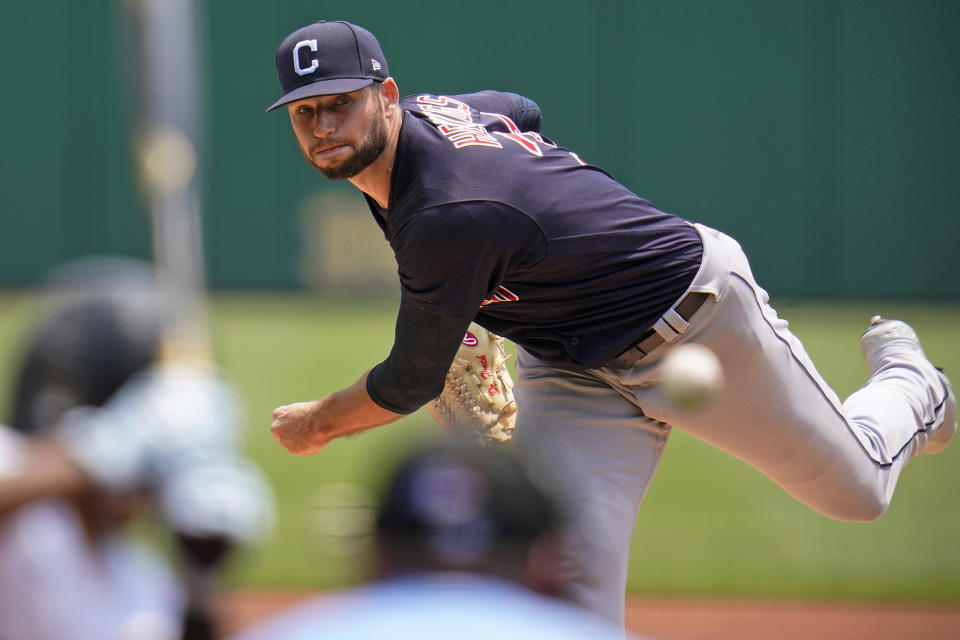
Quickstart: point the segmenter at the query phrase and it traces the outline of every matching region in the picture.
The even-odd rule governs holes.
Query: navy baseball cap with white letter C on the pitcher
[[[297,29],[277,49],[283,96],[267,111],[313,96],[357,91],[389,77],[372,33],[349,22],[321,21]]]

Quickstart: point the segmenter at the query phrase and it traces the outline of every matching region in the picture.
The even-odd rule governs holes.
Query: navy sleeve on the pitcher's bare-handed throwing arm
[[[402,301],[389,357],[367,393],[394,413],[412,413],[443,391],[450,363],[484,300],[511,265],[544,251],[539,227],[490,202],[420,212],[395,239]]]

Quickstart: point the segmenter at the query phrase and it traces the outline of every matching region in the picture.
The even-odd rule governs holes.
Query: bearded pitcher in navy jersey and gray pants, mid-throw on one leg
[[[271,109],[286,110],[308,163],[362,192],[402,288],[383,362],[274,412],[292,453],[441,396],[471,322],[513,341],[515,449],[575,514],[574,597],[622,623],[634,519],[671,428],[849,520],[882,514],[904,465],[953,436],[955,396],[909,326],[878,318],[866,331],[870,379],[841,401],[733,238],[661,211],[550,140],[533,101],[401,99],[376,38],[346,22],[294,31],[276,65],[283,95]],[[665,356],[686,343],[724,372],[700,409],[659,387]]]

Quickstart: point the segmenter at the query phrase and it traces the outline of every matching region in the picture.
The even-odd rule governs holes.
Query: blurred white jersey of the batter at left
[[[17,472],[22,447],[0,426],[0,477]],[[0,522],[0,640],[173,640],[184,604],[164,560],[119,535],[91,545],[64,502]]]

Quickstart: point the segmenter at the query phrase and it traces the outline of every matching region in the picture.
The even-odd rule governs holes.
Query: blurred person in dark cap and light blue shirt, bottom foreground
[[[563,514],[508,450],[448,438],[402,460],[375,542],[368,585],[318,596],[233,640],[624,639],[559,597]]]

